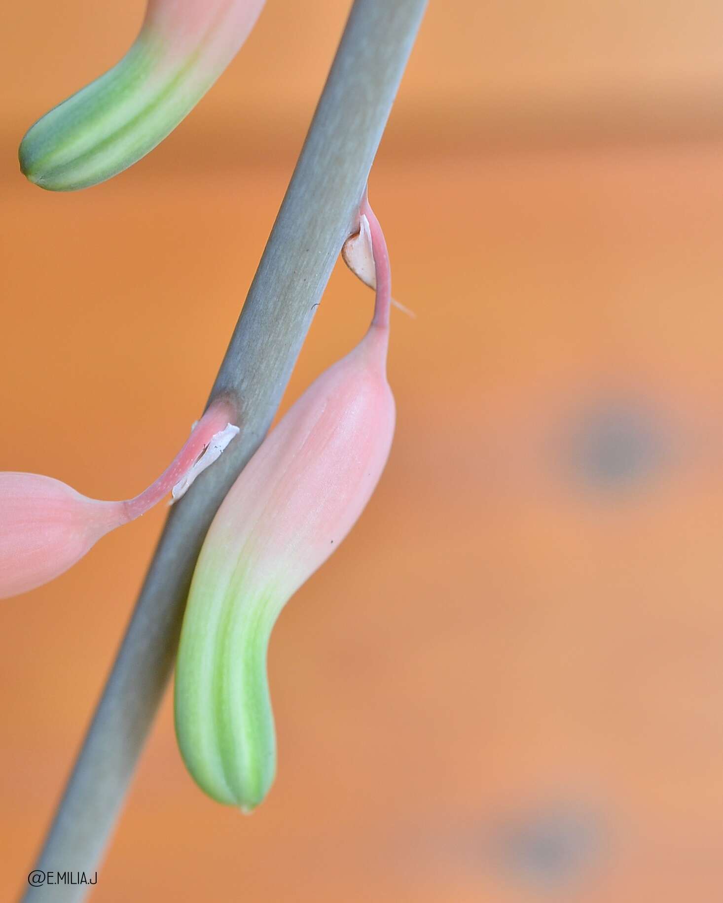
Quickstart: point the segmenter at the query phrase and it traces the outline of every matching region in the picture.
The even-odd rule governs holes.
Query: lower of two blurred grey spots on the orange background
[[[516,878],[554,889],[599,859],[605,833],[596,813],[556,805],[500,824],[493,832],[494,859]]]

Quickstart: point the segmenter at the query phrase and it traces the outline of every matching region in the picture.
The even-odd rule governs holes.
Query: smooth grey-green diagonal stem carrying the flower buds
[[[239,407],[241,433],[171,510],[37,869],[92,872],[98,867],[174,665],[203,537],[268,431],[315,304],[356,226],[425,5],[426,0],[355,0],[352,6],[211,391],[211,398],[226,394]],[[58,885],[52,899],[69,903],[86,891]],[[43,894],[47,898],[48,890],[28,889],[25,899],[34,903]]]

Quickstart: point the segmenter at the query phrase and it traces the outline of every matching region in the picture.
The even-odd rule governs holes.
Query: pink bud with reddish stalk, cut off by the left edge
[[[87,498],[36,473],[0,473],[0,599],[67,571],[101,536],[145,514],[168,492],[180,498],[239,432],[231,416],[225,401],[211,405],[167,470],[127,501]]]

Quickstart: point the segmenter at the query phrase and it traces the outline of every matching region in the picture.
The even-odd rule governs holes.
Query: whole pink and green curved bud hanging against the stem
[[[390,267],[366,202],[377,295],[362,342],[318,377],[230,489],[193,574],[175,675],[175,726],[202,789],[250,810],[276,772],[271,628],[369,501],[390,452]]]

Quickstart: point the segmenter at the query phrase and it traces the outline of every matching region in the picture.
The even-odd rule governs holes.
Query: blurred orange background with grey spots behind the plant
[[[143,4],[0,9],[0,470],[127,498],[170,461],[347,9],[268,0],[164,144],[63,195],[16,146]],[[712,0],[430,5],[371,176],[417,313],[392,321],[399,428],[275,630],[276,785],[250,818],[203,796],[167,697],[94,900],[723,895],[722,37]],[[285,406],[371,303],[338,268]],[[0,609],[0,898],[163,517]]]

